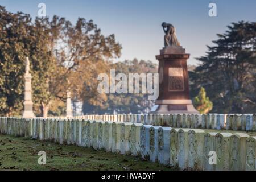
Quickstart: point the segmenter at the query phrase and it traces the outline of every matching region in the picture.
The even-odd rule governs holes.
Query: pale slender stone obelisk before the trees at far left
[[[24,75],[25,78],[25,93],[24,93],[24,111],[23,118],[35,118],[35,114],[33,112],[33,102],[32,102],[32,88],[31,88],[31,74],[30,74],[30,60],[28,57],[26,59],[26,73]]]

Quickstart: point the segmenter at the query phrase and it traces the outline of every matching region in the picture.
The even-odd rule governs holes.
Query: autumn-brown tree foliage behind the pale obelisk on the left
[[[64,102],[67,89],[76,100],[99,100],[97,73],[105,71],[121,46],[114,35],[104,36],[92,20],[79,18],[75,26],[58,16],[36,18],[10,13],[0,6],[0,114],[20,115],[24,99],[26,56],[31,61],[32,90],[36,115],[56,111],[51,104]],[[59,103],[62,106],[63,103]]]

